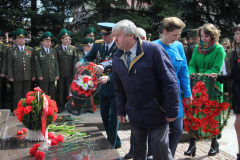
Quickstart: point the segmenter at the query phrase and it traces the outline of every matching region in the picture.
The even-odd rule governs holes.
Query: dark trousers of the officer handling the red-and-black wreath
[[[103,120],[103,125],[107,133],[107,140],[112,146],[121,146],[121,140],[117,134],[119,121],[117,119],[117,107],[115,97],[106,97],[99,94],[100,113]]]

